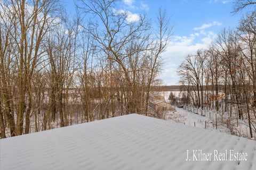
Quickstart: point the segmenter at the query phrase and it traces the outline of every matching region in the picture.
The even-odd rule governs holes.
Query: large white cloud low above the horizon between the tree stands
[[[193,33],[190,36],[173,36],[162,55],[164,66],[158,78],[167,85],[177,85],[180,78],[176,71],[182,60],[188,54],[195,54],[197,50],[209,47],[216,36],[212,31]]]

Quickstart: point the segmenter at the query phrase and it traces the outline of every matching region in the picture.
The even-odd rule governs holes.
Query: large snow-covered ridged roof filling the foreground
[[[131,114],[2,139],[0,169],[256,169],[255,148],[253,140]],[[191,155],[230,149],[247,161]]]

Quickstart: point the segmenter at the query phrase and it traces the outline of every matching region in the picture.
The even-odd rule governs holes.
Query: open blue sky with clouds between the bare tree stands
[[[177,85],[176,70],[181,61],[198,49],[207,48],[223,28],[236,28],[242,14],[231,13],[232,0],[120,0],[119,10],[125,10],[136,20],[145,13],[153,23],[159,7],[171,16],[173,36],[163,53],[163,70],[159,78],[165,85]],[[74,2],[64,0],[67,10],[74,12]]]

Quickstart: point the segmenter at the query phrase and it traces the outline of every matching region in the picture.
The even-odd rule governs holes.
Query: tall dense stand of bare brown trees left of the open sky
[[[0,3],[0,134],[38,132],[148,109],[171,36],[166,11],[131,20],[118,1]]]

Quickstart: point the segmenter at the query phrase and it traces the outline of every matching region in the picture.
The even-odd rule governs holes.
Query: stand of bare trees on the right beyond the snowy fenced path
[[[237,1],[236,11],[254,1]],[[235,30],[224,29],[215,42],[180,64],[187,105],[216,110],[221,117],[256,132],[256,15],[246,13]],[[223,120],[222,120],[223,121]],[[226,120],[225,120],[226,121]]]

